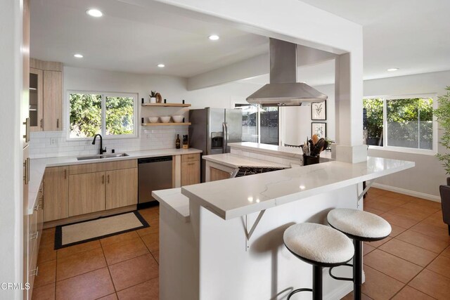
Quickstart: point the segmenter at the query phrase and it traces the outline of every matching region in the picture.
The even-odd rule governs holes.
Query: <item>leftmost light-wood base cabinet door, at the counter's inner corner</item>
[[[69,167],[46,168],[44,175],[44,221],[69,216]]]

